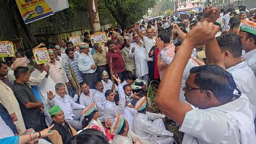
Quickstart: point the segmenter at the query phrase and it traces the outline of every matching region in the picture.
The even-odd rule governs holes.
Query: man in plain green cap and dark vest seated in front
[[[61,111],[59,106],[53,106],[53,108],[49,109],[49,113],[53,118],[53,134],[48,136],[49,140],[53,144],[62,144],[67,143],[67,141],[77,135],[77,131],[65,121],[64,112]]]

